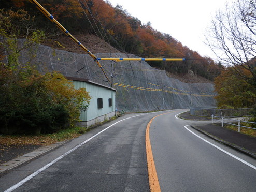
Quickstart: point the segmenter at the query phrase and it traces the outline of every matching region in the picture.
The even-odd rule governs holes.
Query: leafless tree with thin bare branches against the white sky
[[[256,0],[237,0],[219,10],[206,33],[207,44],[225,64],[256,83]],[[250,75],[243,72],[246,69]]]

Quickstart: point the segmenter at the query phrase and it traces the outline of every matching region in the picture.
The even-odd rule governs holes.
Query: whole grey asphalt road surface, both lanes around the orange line
[[[159,114],[150,141],[162,191],[255,191],[256,160],[186,126],[182,111],[120,117],[0,175],[0,191],[149,191],[145,132]]]

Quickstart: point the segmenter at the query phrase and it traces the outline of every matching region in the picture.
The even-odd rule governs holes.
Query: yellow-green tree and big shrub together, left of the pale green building
[[[33,21],[24,10],[0,10],[0,55],[6,61],[0,62],[2,134],[50,134],[74,127],[80,111],[90,102],[84,88],[76,90],[60,73],[37,71],[31,61],[36,45],[45,40],[45,32],[35,29]],[[30,51],[26,63],[19,61],[23,49]]]

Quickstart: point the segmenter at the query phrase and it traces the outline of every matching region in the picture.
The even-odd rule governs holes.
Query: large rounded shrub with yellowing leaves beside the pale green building
[[[1,69],[0,74],[9,72],[9,78],[0,79],[0,132],[4,134],[59,131],[73,126],[79,120],[80,108],[86,109],[89,104],[88,92],[75,90],[59,73],[20,71],[14,75]]]

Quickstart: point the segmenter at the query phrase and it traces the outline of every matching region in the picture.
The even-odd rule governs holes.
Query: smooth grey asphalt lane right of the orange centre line
[[[162,191],[255,191],[255,169],[216,149],[189,130],[254,166],[255,159],[210,140],[189,126],[189,130],[186,129],[184,126],[191,122],[176,119],[176,114],[157,117],[150,128]]]

